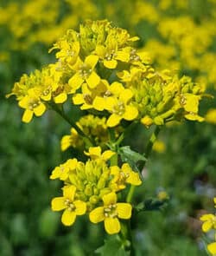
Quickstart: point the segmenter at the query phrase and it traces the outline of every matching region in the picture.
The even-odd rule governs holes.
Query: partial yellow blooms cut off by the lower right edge
[[[213,199],[216,207],[216,197]],[[212,213],[206,213],[200,217],[200,220],[203,221],[202,230],[207,233],[210,230],[214,230],[214,242],[207,245],[207,250],[212,255],[216,255],[216,215]]]

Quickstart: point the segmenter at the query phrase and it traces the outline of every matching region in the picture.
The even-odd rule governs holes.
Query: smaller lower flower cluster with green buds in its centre
[[[89,156],[86,163],[73,158],[54,168],[50,179],[64,181],[64,187],[63,196],[52,200],[52,209],[64,210],[61,221],[66,226],[73,225],[77,215],[88,213],[92,223],[105,221],[107,233],[118,233],[118,219],[130,219],[132,210],[129,203],[118,202],[118,192],[142,181],[127,163],[110,166],[108,162],[116,154],[111,150],[102,153],[95,147],[85,154]]]

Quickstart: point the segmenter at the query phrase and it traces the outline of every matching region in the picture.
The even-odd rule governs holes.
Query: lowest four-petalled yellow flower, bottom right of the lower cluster
[[[104,206],[97,207],[89,213],[92,223],[105,221],[105,231],[109,234],[119,233],[121,230],[119,219],[130,219],[132,207],[128,203],[117,203],[117,194],[110,193],[103,196]]]

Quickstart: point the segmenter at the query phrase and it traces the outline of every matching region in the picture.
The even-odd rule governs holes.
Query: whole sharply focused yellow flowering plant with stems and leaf
[[[50,175],[63,182],[62,196],[51,203],[54,211],[64,211],[62,223],[72,226],[84,214],[94,224],[104,221],[106,233],[120,233],[121,250],[131,255],[130,220],[147,206],[136,204],[134,192],[144,183],[142,170],[156,137],[169,121],[204,121],[199,104],[205,92],[190,77],[156,70],[134,46],[138,40],[107,20],[88,20],[54,43],[56,62],[22,75],[10,94],[24,109],[22,121],[52,109],[71,125],[61,150],[79,148],[82,160],[73,157]],[[65,105],[84,115],[73,120]],[[145,152],[124,145],[138,124],[154,128]]]

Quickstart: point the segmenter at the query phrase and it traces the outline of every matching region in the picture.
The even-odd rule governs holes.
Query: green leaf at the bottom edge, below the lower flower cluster
[[[124,245],[117,235],[105,240],[105,245],[99,247],[95,253],[102,256],[129,256],[130,252],[124,250]]]

